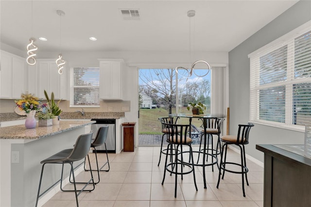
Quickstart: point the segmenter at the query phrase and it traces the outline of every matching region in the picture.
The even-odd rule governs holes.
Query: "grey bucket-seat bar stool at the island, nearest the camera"
[[[77,190],[74,172],[73,172],[73,170],[74,170],[73,169],[73,162],[84,159],[84,158],[86,158],[86,156],[87,156],[87,159],[89,162],[88,152],[89,152],[89,149],[91,147],[92,135],[93,135],[93,132],[90,132],[90,133],[85,134],[85,135],[80,135],[77,138],[76,143],[73,146],[73,149],[62,150],[62,151],[56,153],[55,155],[52,155],[52,156],[50,156],[50,157],[48,157],[48,158],[46,158],[40,162],[43,165],[42,165],[42,170],[41,170],[41,176],[40,176],[40,182],[39,182],[39,188],[38,188],[38,194],[37,194],[35,206],[38,205],[39,197],[41,197],[43,194],[45,194],[46,192],[51,190],[59,182],[60,182],[60,189],[62,191],[74,191],[75,192],[77,207],[79,206],[78,196],[80,195],[80,193],[82,191],[89,191],[90,192],[90,191],[95,189],[92,171],[90,171],[91,179],[86,183],[86,185],[83,187],[82,190]],[[63,188],[62,188],[64,164],[65,163],[68,163],[71,166],[70,175],[72,173],[74,190],[63,190]],[[43,175],[44,166],[46,164],[62,164],[62,173],[61,173],[61,178],[58,181],[56,181],[50,188],[48,188],[47,190],[45,190],[44,192],[42,192],[40,194],[42,175]],[[90,162],[89,162],[89,167],[91,169]],[[93,188],[91,190],[84,190],[88,184],[93,184]],[[79,193],[77,193],[77,191],[79,191]]]

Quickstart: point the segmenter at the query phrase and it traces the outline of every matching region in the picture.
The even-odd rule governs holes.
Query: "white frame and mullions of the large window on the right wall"
[[[293,86],[294,84],[310,83],[311,77],[295,78],[294,77],[294,41],[295,38],[311,31],[311,21],[306,22],[293,31],[283,35],[276,40],[268,43],[262,48],[248,55],[250,58],[250,112],[249,120],[263,125],[269,125],[278,128],[290,129],[294,131],[304,131],[303,125],[293,124]],[[287,45],[287,78],[285,81],[260,85],[260,57],[273,52]],[[259,120],[259,90],[277,86],[285,86],[285,123],[276,121]]]

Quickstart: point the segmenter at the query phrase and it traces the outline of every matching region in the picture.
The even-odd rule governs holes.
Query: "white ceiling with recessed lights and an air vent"
[[[0,37],[1,42],[25,50],[33,36],[40,51],[58,52],[61,21],[62,51],[189,51],[187,12],[195,10],[191,18],[194,50],[229,52],[296,2],[33,0],[32,12],[30,0],[0,0]],[[140,20],[123,20],[119,9],[138,9]],[[56,10],[66,15],[60,17]],[[40,36],[48,41],[38,40]],[[90,36],[98,40],[90,41]]]

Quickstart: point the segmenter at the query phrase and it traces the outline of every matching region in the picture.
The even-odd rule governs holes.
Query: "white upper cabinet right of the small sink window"
[[[100,61],[100,99],[123,99],[123,60],[99,59]]]

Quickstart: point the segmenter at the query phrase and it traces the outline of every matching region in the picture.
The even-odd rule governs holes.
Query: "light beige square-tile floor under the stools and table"
[[[198,147],[193,146],[194,150]],[[240,174],[225,173],[224,180],[216,188],[218,169],[214,172],[206,167],[207,189],[203,185],[202,167],[196,167],[195,191],[193,175],[178,176],[177,197],[174,198],[174,175],[166,174],[163,179],[165,156],[160,166],[159,147],[138,147],[135,152],[108,154],[110,171],[101,172],[100,183],[95,190],[83,192],[78,197],[80,207],[262,207],[263,206],[263,168],[247,160],[249,186],[245,184],[246,197],[242,195]],[[196,158],[196,156],[194,155]],[[232,150],[227,158],[239,161],[240,155]],[[92,167],[95,167],[95,155],[90,153]],[[105,161],[105,154],[100,154],[100,161]],[[104,163],[104,162],[103,162]],[[89,172],[76,176],[77,181],[86,180]],[[94,172],[94,179],[98,179]],[[66,186],[67,187],[67,186]],[[58,192],[44,207],[74,207],[74,192]]]

